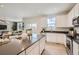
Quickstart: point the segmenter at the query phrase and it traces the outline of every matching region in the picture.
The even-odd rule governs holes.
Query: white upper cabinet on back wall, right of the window
[[[67,15],[56,16],[56,27],[66,27]]]

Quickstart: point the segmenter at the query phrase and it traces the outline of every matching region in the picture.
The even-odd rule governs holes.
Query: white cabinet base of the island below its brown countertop
[[[45,37],[26,49],[26,55],[40,55],[45,48]]]

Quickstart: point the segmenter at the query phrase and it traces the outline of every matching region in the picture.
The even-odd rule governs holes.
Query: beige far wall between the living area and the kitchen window
[[[37,16],[37,17],[33,17],[33,18],[24,18],[23,22],[24,22],[24,29],[26,30],[26,25],[27,24],[37,24],[37,31],[36,33],[40,33],[43,27],[47,26],[47,21],[46,21],[46,17],[44,16]]]

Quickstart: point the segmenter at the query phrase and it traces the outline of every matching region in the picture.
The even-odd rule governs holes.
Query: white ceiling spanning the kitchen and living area
[[[33,17],[69,11],[75,3],[1,3],[0,17]]]

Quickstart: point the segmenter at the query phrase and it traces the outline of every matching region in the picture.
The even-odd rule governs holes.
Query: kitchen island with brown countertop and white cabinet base
[[[42,34],[37,35],[37,37],[32,37],[30,41],[27,39],[26,40],[10,39],[10,42],[0,46],[0,55],[37,54],[37,53],[32,53],[34,52],[34,48],[36,48],[37,46],[38,49],[36,52],[38,52],[38,54],[41,54],[44,49],[44,46],[42,47],[42,50],[40,49],[42,40],[43,43],[45,43],[45,35]]]

